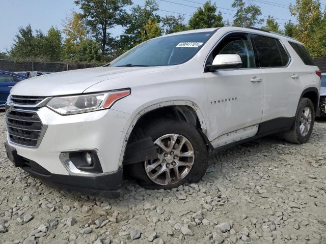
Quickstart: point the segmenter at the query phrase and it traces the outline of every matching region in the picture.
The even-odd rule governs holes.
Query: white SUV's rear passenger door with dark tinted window
[[[297,107],[296,90],[301,82],[283,43],[273,37],[252,34],[258,66],[263,72],[262,121],[293,117]],[[282,121],[276,121],[277,124]],[[282,125],[275,125],[282,127]],[[273,128],[270,128],[273,129]]]

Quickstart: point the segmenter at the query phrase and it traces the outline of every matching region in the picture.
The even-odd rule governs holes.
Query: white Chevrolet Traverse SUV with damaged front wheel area
[[[152,189],[198,181],[209,151],[312,132],[320,72],[304,46],[253,28],[158,37],[99,68],[21,81],[6,105],[8,157],[30,174],[117,197],[123,171]]]

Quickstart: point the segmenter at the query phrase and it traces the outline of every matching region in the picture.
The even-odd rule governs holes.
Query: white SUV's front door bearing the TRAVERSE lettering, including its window
[[[211,65],[218,54],[238,54],[242,66],[204,73],[209,112],[207,136],[215,147],[245,139],[241,137],[242,132],[246,138],[255,135],[263,111],[263,76],[261,69],[256,68],[249,35],[232,33],[224,37],[213,49],[206,65]],[[251,126],[254,127],[248,128]],[[244,131],[237,131],[240,129]],[[246,134],[249,130],[253,133]],[[231,132],[234,132],[232,140],[220,143],[220,139]]]

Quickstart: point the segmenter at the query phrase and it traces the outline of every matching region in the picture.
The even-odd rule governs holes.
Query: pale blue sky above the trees
[[[145,0],[133,0],[135,5],[143,5]],[[174,2],[174,3],[172,3]],[[157,0],[159,4],[158,14],[160,16],[183,14],[185,22],[189,20],[191,15],[198,7],[201,7],[206,0]],[[218,10],[222,12],[223,19],[232,21],[234,10],[232,11],[233,0],[212,0],[216,3]],[[255,4],[261,8],[262,17],[266,19],[268,15],[272,15],[280,23],[281,27],[287,20],[295,20],[291,17],[288,8],[276,7],[276,4],[287,6],[293,4],[295,0],[246,0],[248,4]],[[263,3],[265,2],[265,3]],[[177,4],[175,4],[177,3]],[[322,8],[325,7],[326,0],[321,0]],[[80,11],[74,4],[73,0],[0,0],[0,52],[10,49],[18,27],[32,25],[33,30],[41,29],[44,33],[53,26],[62,29],[62,22],[70,15],[72,10]],[[171,13],[174,12],[174,13]],[[121,26],[117,26],[110,32],[113,36],[119,36],[123,31]]]

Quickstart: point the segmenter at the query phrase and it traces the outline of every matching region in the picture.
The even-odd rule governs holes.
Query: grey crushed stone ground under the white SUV
[[[326,243],[325,134],[318,120],[303,145],[279,135],[239,145],[171,191],[125,180],[116,200],[49,188],[2,146],[0,243]]]

